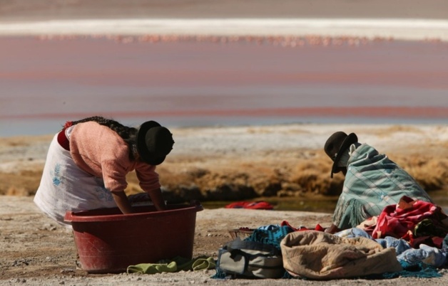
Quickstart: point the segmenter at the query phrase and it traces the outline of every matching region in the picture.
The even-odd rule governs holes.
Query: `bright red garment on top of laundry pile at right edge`
[[[378,217],[377,226],[372,232],[372,238],[403,238],[414,243],[424,238],[414,238],[414,227],[420,221],[429,218],[435,226],[442,224],[447,215],[442,208],[426,201],[414,201],[412,198],[402,196],[396,205],[386,206]],[[410,232],[410,233],[409,233]],[[426,238],[425,238],[426,239]]]

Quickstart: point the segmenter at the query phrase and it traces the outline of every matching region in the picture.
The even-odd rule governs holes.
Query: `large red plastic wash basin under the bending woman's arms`
[[[200,203],[171,205],[166,211],[137,207],[124,215],[118,208],[67,211],[81,268],[87,272],[125,272],[129,265],[157,263],[175,256],[192,258],[196,213]]]

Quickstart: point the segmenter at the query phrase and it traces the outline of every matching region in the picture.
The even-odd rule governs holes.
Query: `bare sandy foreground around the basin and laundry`
[[[75,266],[72,234],[56,225],[34,206],[31,197],[0,196],[0,285],[447,285],[440,278],[396,278],[393,280],[216,280],[215,270],[156,275],[88,274]],[[215,257],[229,241],[228,229],[264,226],[287,220],[292,225],[315,226],[329,214],[294,211],[205,209],[197,213],[193,255]],[[322,226],[327,226],[322,223]],[[447,272],[442,270],[442,273]]]

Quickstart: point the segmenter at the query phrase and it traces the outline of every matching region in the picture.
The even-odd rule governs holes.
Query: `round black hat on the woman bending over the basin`
[[[158,122],[144,122],[137,133],[137,151],[142,161],[150,165],[161,164],[173,149],[173,134]]]

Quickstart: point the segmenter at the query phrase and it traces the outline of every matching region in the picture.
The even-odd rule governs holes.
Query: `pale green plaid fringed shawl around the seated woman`
[[[350,156],[342,194],[333,223],[340,229],[353,228],[402,196],[432,202],[426,191],[385,154],[361,144]]]

